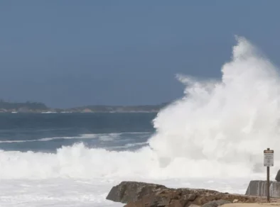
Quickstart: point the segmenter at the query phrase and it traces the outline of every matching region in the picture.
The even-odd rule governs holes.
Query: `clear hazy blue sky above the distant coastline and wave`
[[[235,35],[280,65],[280,1],[0,1],[0,98],[161,104],[176,74],[220,79]]]

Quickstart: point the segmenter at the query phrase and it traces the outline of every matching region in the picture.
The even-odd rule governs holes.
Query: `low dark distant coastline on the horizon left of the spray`
[[[40,102],[14,103],[0,100],[0,113],[156,113],[168,103],[139,106],[88,105],[74,108],[49,108]]]

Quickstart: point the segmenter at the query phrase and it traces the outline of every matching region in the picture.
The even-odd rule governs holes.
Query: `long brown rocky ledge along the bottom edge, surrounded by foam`
[[[126,207],[216,207],[225,203],[262,203],[265,197],[220,193],[207,189],[169,189],[166,186],[122,181],[114,186],[107,200],[126,203]],[[271,202],[279,200],[271,199]]]

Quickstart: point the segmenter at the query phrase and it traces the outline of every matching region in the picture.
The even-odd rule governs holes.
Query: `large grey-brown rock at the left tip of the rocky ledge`
[[[128,203],[129,201],[139,201],[143,196],[154,194],[156,191],[166,189],[166,186],[157,184],[147,184],[134,181],[122,181],[114,186],[107,196],[107,200]]]

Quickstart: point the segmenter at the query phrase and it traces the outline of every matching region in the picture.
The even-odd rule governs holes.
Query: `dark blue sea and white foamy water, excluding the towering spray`
[[[105,200],[123,180],[244,191],[246,182],[176,178],[180,169],[173,167],[161,172],[146,148],[154,118],[156,113],[1,113],[0,206],[123,206]]]

